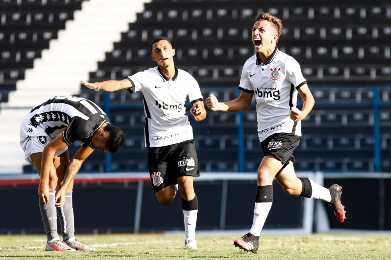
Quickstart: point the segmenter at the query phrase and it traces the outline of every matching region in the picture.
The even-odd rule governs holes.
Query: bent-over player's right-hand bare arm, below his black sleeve
[[[81,165],[84,160],[93,152],[94,150],[90,146],[81,147],[74,156],[72,156],[68,168],[66,169],[63,183],[60,189],[57,191],[55,201],[60,199],[58,203],[56,203],[57,207],[63,207],[65,203],[65,194],[68,190],[70,183],[72,183],[75,178],[76,173],[79,171]]]

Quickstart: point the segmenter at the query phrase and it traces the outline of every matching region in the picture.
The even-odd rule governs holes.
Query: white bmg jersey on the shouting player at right
[[[290,118],[291,107],[296,107],[298,89],[307,84],[298,62],[276,49],[262,63],[257,54],[243,66],[239,89],[255,93],[258,137],[262,142],[275,133],[301,136],[301,121]]]

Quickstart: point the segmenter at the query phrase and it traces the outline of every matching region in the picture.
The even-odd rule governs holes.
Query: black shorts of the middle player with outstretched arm
[[[148,148],[148,168],[154,192],[176,183],[180,176],[198,177],[194,140]]]

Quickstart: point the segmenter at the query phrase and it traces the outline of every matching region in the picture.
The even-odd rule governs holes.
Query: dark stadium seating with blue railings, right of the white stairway
[[[303,139],[295,150],[296,169],[376,171],[376,150],[380,150],[382,171],[391,170],[391,160],[386,156],[391,150],[391,109],[387,107],[391,97],[387,86],[391,76],[391,4],[384,0],[359,0],[349,5],[336,0],[280,0],[278,4],[259,0],[153,0],[144,4],[137,20],[122,30],[113,50],[105,53],[104,61],[97,62],[97,69],[90,69],[89,77],[79,79],[121,80],[156,66],[150,59],[149,46],[155,37],[166,36],[176,49],[176,66],[196,78],[205,98],[214,93],[221,101],[231,100],[239,94],[242,66],[254,54],[251,27],[262,11],[282,20],[278,48],[301,64],[316,100],[316,107],[303,122]],[[108,106],[105,93],[83,87],[80,95]],[[118,91],[109,93],[108,99],[113,124],[128,136],[124,148],[112,157],[111,170],[147,171],[141,94]],[[380,112],[373,109],[374,103],[384,106]],[[257,169],[262,151],[253,109],[239,114],[208,111],[206,120],[190,120],[201,170]],[[376,125],[379,135],[375,135]],[[380,140],[378,148],[376,137]],[[74,146],[70,151],[76,149]],[[106,171],[102,155],[91,157],[83,171]]]

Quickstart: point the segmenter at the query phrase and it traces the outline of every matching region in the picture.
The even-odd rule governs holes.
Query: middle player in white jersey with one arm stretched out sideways
[[[176,195],[176,183],[182,196],[185,222],[185,246],[197,249],[195,225],[198,200],[193,178],[199,176],[193,130],[185,114],[187,97],[193,107],[190,113],[197,121],[206,117],[203,96],[197,81],[186,71],[174,66],[175,49],[166,37],[151,43],[152,59],[157,67],[129,76],[124,80],[89,83],[90,89],[130,93],[140,91],[144,98],[145,146],[151,182],[161,205],[169,205]]]

